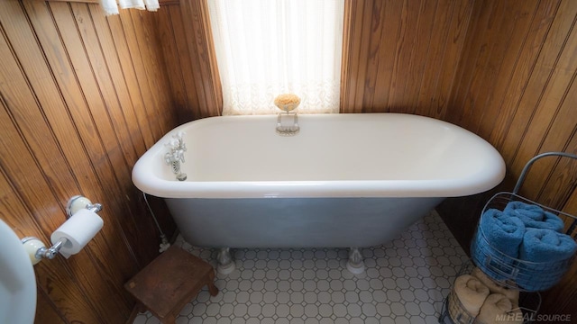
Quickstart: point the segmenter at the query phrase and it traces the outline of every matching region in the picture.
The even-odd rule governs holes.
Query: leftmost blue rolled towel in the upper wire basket
[[[490,209],[483,212],[481,230],[491,247],[495,247],[508,257],[517,257],[519,246],[525,234],[525,225],[517,217]],[[481,243],[481,242],[479,242]]]

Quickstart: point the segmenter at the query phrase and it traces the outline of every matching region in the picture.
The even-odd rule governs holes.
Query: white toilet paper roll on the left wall
[[[60,248],[60,254],[66,258],[75,255],[87,245],[90,239],[102,229],[104,221],[94,211],[87,209],[76,212],[69,220],[66,220],[60,228],[50,236],[52,244],[58,243],[60,238],[66,238],[66,242]]]

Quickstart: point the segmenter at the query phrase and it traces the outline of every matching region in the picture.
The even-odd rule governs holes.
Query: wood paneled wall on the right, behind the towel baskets
[[[446,121],[499,149],[510,191],[538,153],[577,153],[577,2],[476,0]],[[547,157],[532,167],[521,193],[577,214],[577,162]],[[468,249],[490,193],[445,201],[439,210]],[[543,313],[577,319],[577,272],[544,295]]]

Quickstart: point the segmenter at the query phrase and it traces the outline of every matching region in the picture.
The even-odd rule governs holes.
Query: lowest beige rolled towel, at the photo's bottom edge
[[[523,313],[507,296],[500,293],[491,293],[483,302],[481,311],[475,323],[482,324],[521,324]]]

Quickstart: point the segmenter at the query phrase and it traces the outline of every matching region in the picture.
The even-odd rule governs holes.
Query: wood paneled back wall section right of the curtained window
[[[408,112],[442,118],[472,1],[347,3],[341,112]]]

